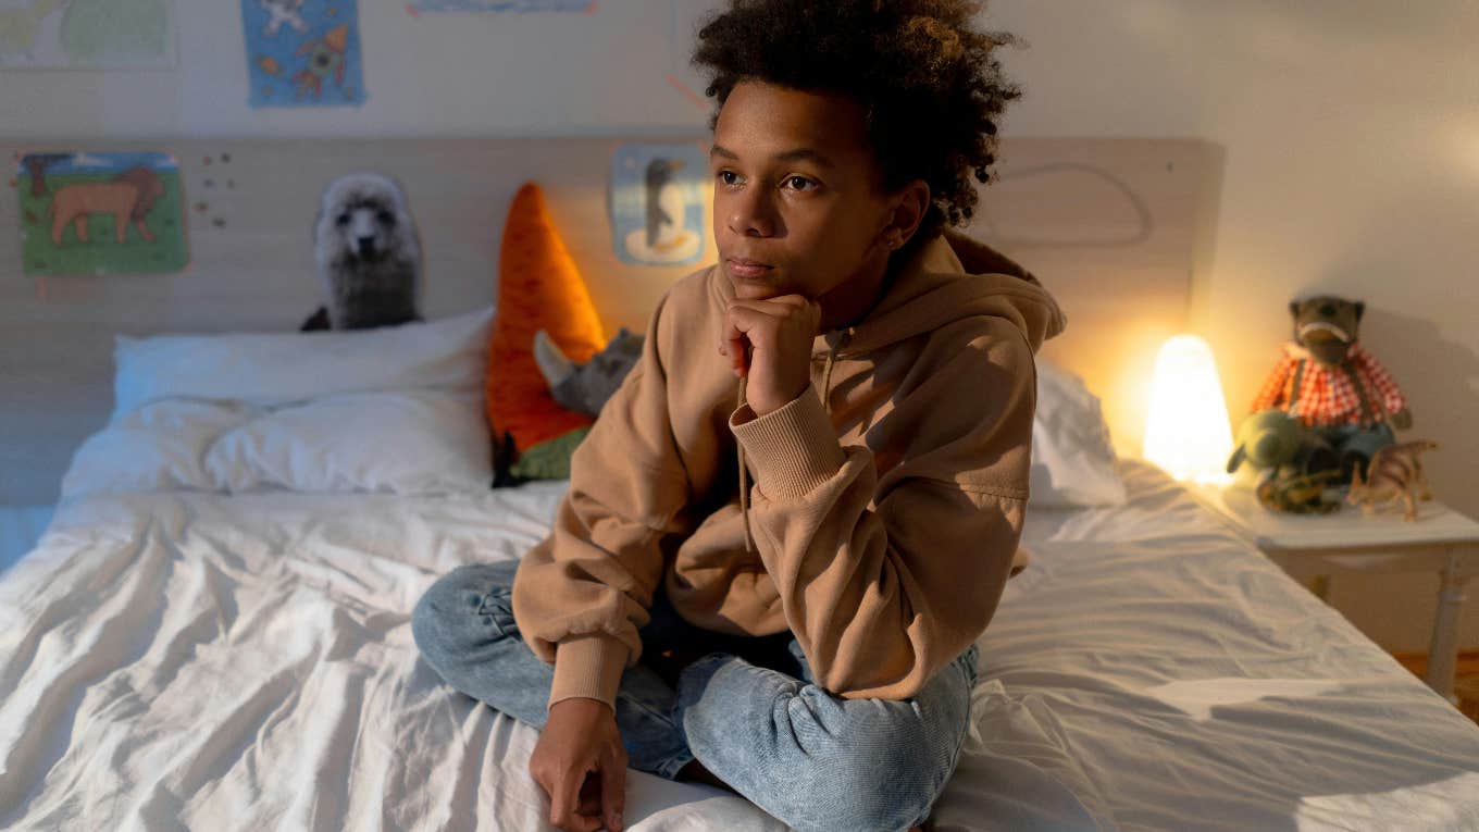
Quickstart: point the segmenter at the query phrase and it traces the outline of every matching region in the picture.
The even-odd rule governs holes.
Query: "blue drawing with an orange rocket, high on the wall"
[[[241,0],[251,107],[365,101],[356,0]]]

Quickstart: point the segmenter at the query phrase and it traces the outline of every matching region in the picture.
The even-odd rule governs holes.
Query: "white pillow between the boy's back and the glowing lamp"
[[[1109,426],[1083,379],[1037,360],[1032,419],[1032,508],[1105,506],[1126,502]]]

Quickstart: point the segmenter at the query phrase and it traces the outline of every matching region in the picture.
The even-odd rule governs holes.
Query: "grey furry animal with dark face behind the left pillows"
[[[389,176],[349,173],[324,188],[314,259],[325,303],[302,330],[371,329],[422,320],[422,241]]]

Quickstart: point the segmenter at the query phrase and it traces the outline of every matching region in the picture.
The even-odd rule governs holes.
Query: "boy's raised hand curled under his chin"
[[[778,410],[812,383],[812,340],[822,308],[802,295],[729,301],[719,351],[737,376],[748,376],[745,400],[756,416]]]

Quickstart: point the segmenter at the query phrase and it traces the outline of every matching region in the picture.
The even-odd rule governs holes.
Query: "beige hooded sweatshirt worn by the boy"
[[[550,705],[614,705],[658,582],[700,628],[790,629],[839,696],[907,699],[1025,563],[1032,354],[1063,329],[1037,280],[936,237],[861,323],[816,336],[812,386],[759,417],[717,349],[732,296],[711,266],[663,298],[519,564],[513,614],[555,663]]]

